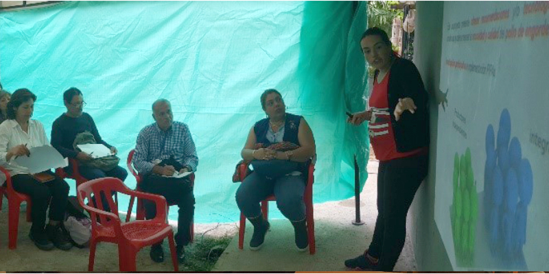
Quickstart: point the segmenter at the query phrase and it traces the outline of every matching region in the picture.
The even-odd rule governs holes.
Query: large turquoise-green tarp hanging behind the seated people
[[[0,12],[0,79],[38,96],[33,119],[48,135],[65,112],[62,92],[82,90],[84,111],[124,167],[139,130],[154,123],[152,102],[170,100],[200,159],[195,221],[231,222],[239,217],[231,175],[250,127],[265,117],[267,88],[312,127],[314,201],[353,195],[353,154],[364,168],[369,142],[344,112],[364,110],[364,29],[364,2],[69,1]],[[135,187],[131,175],[126,185]],[[127,197],[120,203],[125,210]]]

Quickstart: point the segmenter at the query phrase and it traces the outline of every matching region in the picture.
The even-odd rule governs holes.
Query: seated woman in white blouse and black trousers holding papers
[[[15,191],[29,195],[32,201],[32,226],[29,237],[39,249],[71,249],[60,223],[65,217],[69,185],[51,171],[46,171],[49,182],[40,182],[14,159],[30,155],[29,149],[49,145],[42,123],[30,119],[34,112],[36,95],[26,88],[16,90],[8,103],[8,120],[0,125],[0,165],[12,177]],[[46,210],[49,207],[49,223]]]

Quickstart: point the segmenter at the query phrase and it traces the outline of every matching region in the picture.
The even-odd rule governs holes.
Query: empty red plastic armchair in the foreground
[[[101,192],[110,193],[111,191],[121,192],[131,197],[148,199],[156,204],[156,216],[152,220],[132,221],[121,223],[118,217],[118,208],[115,206],[113,197],[104,195],[110,206],[111,212],[104,211]],[[130,190],[124,183],[117,178],[104,177],[93,179],[80,184],[77,190],[78,202],[91,215],[91,239],[90,239],[90,258],[88,271],[93,271],[93,262],[95,260],[95,247],[97,242],[112,242],[118,245],[119,271],[136,271],[136,256],[139,250],[148,245],[153,245],[163,238],[168,238],[170,242],[170,253],[172,253],[172,262],[174,271],[179,271],[176,258],[176,247],[174,242],[174,232],[172,227],[166,222],[166,199],[160,195]],[[91,202],[91,197],[97,199],[97,208]],[[88,203],[84,203],[87,199]],[[97,222],[97,217],[100,223]]]

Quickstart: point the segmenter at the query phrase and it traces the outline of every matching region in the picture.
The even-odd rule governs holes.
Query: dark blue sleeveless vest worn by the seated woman
[[[292,142],[296,145],[299,145],[299,140],[297,138],[297,133],[299,132],[299,123],[301,122],[301,116],[286,113],[286,123],[284,125],[284,136],[282,140],[284,142]],[[271,145],[271,142],[267,139],[267,131],[269,130],[269,119],[259,120],[253,126],[253,132],[255,133],[255,138],[257,143],[264,144],[264,147]]]

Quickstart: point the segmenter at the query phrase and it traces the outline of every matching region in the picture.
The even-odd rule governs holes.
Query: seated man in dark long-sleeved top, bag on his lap
[[[86,162],[93,160],[91,155],[88,155],[83,151],[77,151],[74,148],[75,139],[77,137],[81,138],[80,136],[82,136],[81,134],[84,134],[84,132],[89,132],[93,135],[97,144],[105,145],[105,147],[108,147],[110,151],[115,154],[118,152],[116,147],[108,145],[108,143],[101,138],[90,114],[83,112],[86,102],[84,102],[82,92],[78,90],[78,88],[69,88],[63,93],[63,101],[65,102],[67,112],[61,114],[51,127],[51,145],[55,147],[63,157],[78,160],[80,163],[78,165],[78,171],[84,178],[97,179],[102,177],[115,177],[124,182],[124,179],[128,176],[128,171],[126,171],[126,169],[123,169],[121,166],[115,166],[110,171],[104,171],[86,165]],[[72,167],[68,166],[65,168],[65,171],[72,173]],[[102,200],[104,201],[103,206],[105,210],[110,211],[106,200]]]

